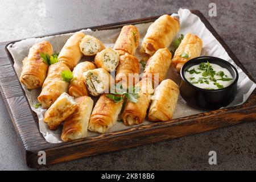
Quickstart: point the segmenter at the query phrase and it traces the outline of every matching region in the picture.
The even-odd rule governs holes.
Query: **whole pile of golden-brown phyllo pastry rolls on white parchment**
[[[126,81],[127,85],[131,81],[139,87],[136,102],[122,95],[119,97],[123,99],[117,102],[109,97],[112,93],[105,93],[110,84],[118,84],[123,76],[139,74],[139,60],[134,56],[139,31],[133,25],[122,27],[113,48],[105,48],[97,38],[76,32],[67,40],[54,64],[47,64],[40,56],[42,53],[52,55],[51,44],[46,41],[35,44],[23,60],[20,82],[27,89],[42,87],[38,101],[43,109],[47,109],[44,122],[51,130],[63,124],[61,139],[64,141],[84,138],[88,129],[105,133],[117,123],[118,115],[125,125],[140,124],[146,116],[149,121],[169,121],[175,110],[179,87],[170,79],[164,80],[168,69],[172,66],[179,72],[186,61],[200,56],[203,46],[200,38],[188,33],[172,57],[168,47],[179,30],[179,20],[170,15],[160,16],[148,28],[140,49],[149,57],[146,68],[140,81]],[[94,63],[79,63],[83,55],[94,56]],[[63,79],[63,74],[71,71],[72,80]],[[110,76],[113,71],[115,78]],[[157,77],[154,77],[155,73]],[[156,81],[160,84],[154,88]],[[91,97],[94,96],[100,98],[93,107]]]

